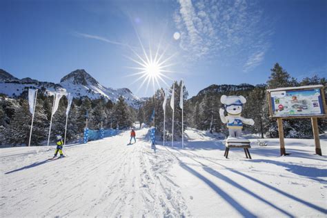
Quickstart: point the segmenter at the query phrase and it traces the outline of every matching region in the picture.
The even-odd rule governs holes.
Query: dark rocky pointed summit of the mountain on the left
[[[99,84],[99,82],[95,78],[93,78],[91,75],[88,74],[88,72],[83,69],[77,69],[70,72],[70,74],[66,75],[60,80],[61,83],[64,81],[72,81],[72,83],[74,84],[81,84],[83,86],[87,86],[88,84]]]

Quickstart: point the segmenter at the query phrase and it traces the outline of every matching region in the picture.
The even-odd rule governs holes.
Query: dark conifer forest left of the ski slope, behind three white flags
[[[48,139],[53,97],[39,90],[34,114],[32,145],[40,145]],[[59,108],[52,118],[51,140],[64,135],[67,99],[62,97]],[[88,97],[74,99],[68,116],[67,140],[83,136],[88,115],[88,128],[128,128],[135,122],[136,111],[119,97],[117,103],[106,99],[91,100]],[[0,144],[28,144],[32,115],[28,109],[27,91],[16,99],[0,96]]]

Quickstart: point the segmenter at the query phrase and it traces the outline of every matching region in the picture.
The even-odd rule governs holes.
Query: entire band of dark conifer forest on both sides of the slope
[[[270,70],[270,77],[266,84],[252,86],[249,84],[235,85],[212,85],[201,90],[199,94],[188,99],[187,87],[184,86],[184,128],[192,127],[211,132],[222,132],[228,135],[226,125],[221,123],[219,108],[221,95],[243,95],[247,102],[244,105],[242,116],[255,120],[254,126],[244,126],[244,132],[256,133],[261,137],[278,137],[277,123],[269,119],[268,101],[266,90],[268,88],[280,88],[288,86],[309,86],[322,84],[326,86],[326,79],[306,77],[301,81],[293,78],[275,64]],[[166,91],[157,90],[155,95],[143,102],[138,109],[131,108],[119,97],[116,103],[106,99],[91,100],[88,97],[74,99],[68,117],[67,139],[68,141],[79,139],[86,127],[86,114],[88,114],[88,128],[129,128],[139,121],[151,126],[152,112],[155,110],[155,126],[157,135],[166,140],[172,137],[172,110],[170,98],[172,87]],[[33,87],[31,87],[33,88]],[[38,92],[37,106],[35,110],[32,145],[39,145],[47,140],[50,126],[50,115],[53,97],[45,95],[46,89]],[[166,103],[166,131],[164,132],[164,93],[168,96]],[[179,108],[181,82],[175,81],[175,131],[174,138],[181,137],[181,108]],[[326,92],[326,91],[325,91]],[[327,95],[326,95],[327,96]],[[28,144],[32,115],[28,110],[28,90],[21,96],[10,99],[0,95],[0,144]],[[52,121],[51,139],[56,135],[63,135],[66,123],[67,99],[63,97],[59,103],[59,109]],[[101,124],[102,123],[102,124]],[[319,119],[319,131],[326,130],[326,119]],[[313,137],[310,119],[287,119],[284,121],[285,137],[311,138]]]

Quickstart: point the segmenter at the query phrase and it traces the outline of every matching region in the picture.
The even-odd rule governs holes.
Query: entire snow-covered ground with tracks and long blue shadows
[[[186,130],[186,147],[150,149],[148,129],[66,146],[0,150],[1,217],[326,217],[327,140],[278,139],[246,159],[206,132]],[[180,143],[175,143],[180,146]]]

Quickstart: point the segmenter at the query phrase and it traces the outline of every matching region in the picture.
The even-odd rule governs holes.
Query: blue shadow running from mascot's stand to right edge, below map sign
[[[280,161],[273,161],[268,159],[255,159],[251,160],[251,162],[255,163],[267,163],[267,164],[275,164],[277,166],[283,166],[286,168],[288,172],[293,172],[297,175],[308,177],[309,179],[313,179],[319,182],[326,183],[327,181],[324,179],[319,179],[317,177],[326,177],[327,176],[327,170],[326,169],[319,169],[315,167],[308,167],[308,166],[301,166],[297,164],[288,164],[286,162],[280,162]]]

